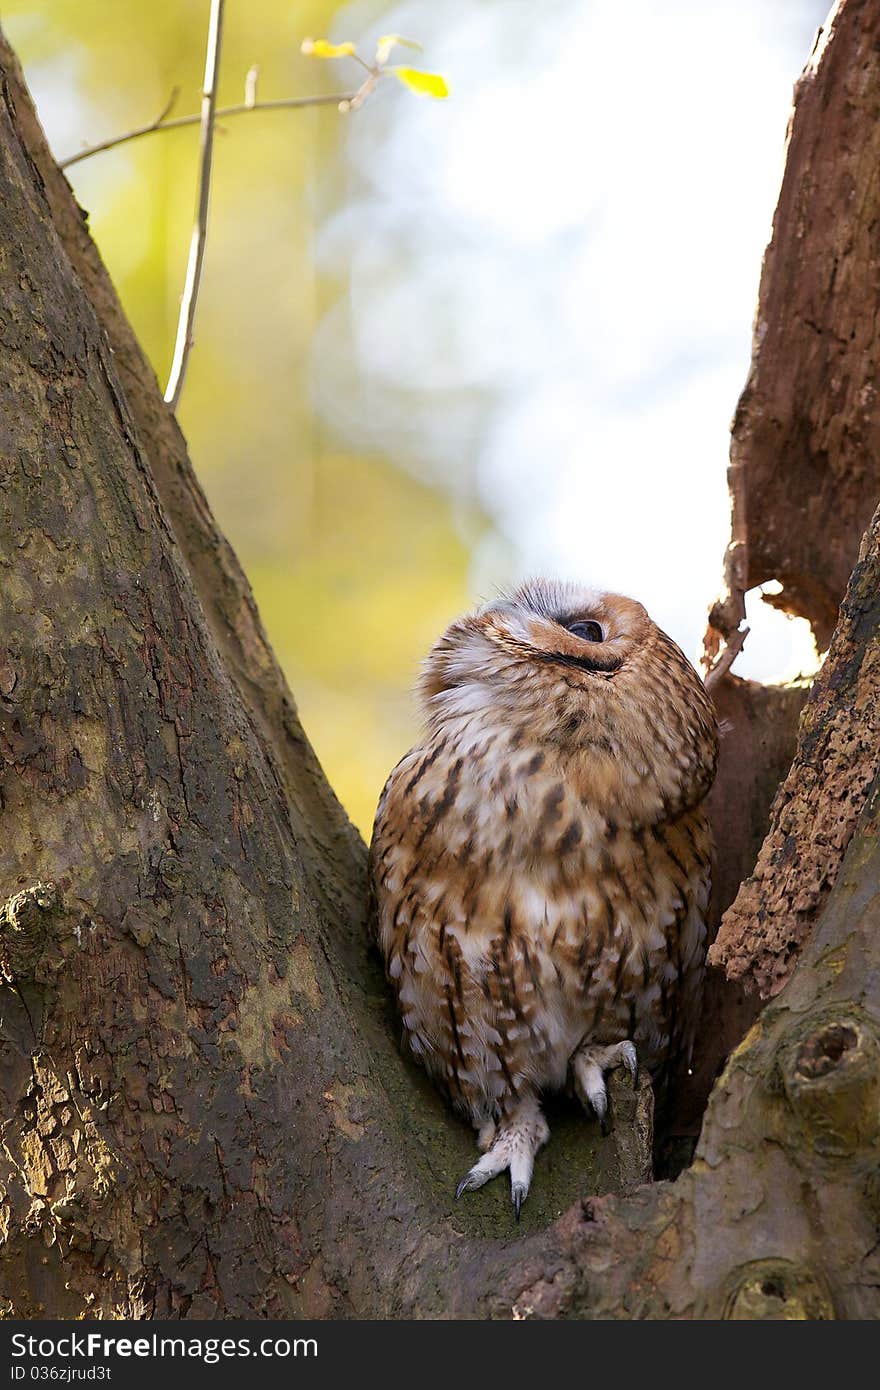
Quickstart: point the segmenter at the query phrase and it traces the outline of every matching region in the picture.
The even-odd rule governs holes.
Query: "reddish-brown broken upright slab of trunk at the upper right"
[[[752,366],[730,450],[727,635],[747,589],[827,648],[880,496],[880,8],[831,10],[795,88],[783,188],[760,277]]]

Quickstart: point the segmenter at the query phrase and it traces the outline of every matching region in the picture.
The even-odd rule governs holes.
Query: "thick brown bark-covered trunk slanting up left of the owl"
[[[363,844],[0,57],[3,1291],[441,1314],[507,1204],[452,1204],[473,1137],[396,1051]],[[639,1170],[582,1116],[553,1163],[525,1227]]]

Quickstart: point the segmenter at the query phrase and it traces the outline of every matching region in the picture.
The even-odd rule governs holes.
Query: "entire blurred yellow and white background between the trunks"
[[[621,26],[601,0],[227,0],[220,104],[253,63],[261,99],[350,90],[357,68],[303,57],[309,35],[364,53],[410,35],[452,89],[388,82],[346,117],[222,128],[178,411],[364,834],[417,727],[421,656],[527,570],[628,588],[694,655],[791,83],[823,11],[633,0]],[[172,88],[175,114],[197,111],[207,13],[7,0],[56,154],[145,124]],[[197,142],[163,132],[70,171],[163,385]]]

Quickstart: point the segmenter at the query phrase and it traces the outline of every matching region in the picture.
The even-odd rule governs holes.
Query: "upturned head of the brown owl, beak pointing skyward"
[[[555,748],[573,774],[665,815],[702,799],[717,728],[703,684],[635,599],[530,580],[455,621],[420,694],[434,727],[468,721]]]

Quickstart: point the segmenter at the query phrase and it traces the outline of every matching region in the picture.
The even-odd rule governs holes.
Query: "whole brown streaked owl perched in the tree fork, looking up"
[[[373,933],[406,1045],[519,1218],[545,1093],[685,1059],[702,990],[717,728],[641,603],[534,580],[439,638],[382,792]]]

